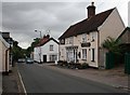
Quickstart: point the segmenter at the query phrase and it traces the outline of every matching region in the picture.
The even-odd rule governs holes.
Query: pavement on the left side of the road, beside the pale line
[[[17,66],[12,67],[9,76],[2,74],[2,95],[6,94],[23,94],[24,90],[20,80]]]

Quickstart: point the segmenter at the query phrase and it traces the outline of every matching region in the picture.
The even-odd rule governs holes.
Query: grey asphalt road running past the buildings
[[[65,74],[36,64],[18,64],[27,93],[125,93],[91,80]]]

